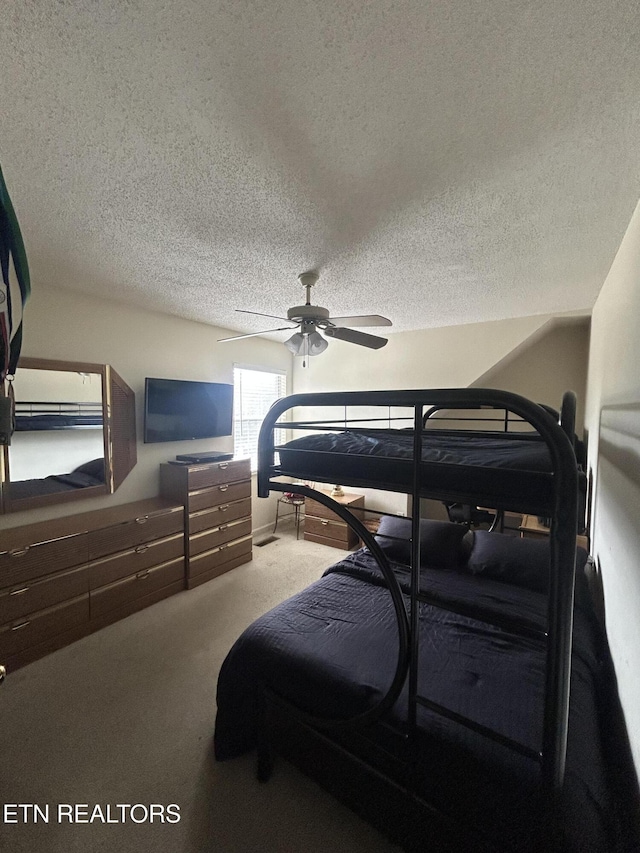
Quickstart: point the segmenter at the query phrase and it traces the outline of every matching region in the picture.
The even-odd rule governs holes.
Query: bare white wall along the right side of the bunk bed
[[[593,309],[586,427],[592,551],[620,701],[640,769],[640,205]]]

